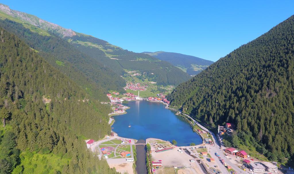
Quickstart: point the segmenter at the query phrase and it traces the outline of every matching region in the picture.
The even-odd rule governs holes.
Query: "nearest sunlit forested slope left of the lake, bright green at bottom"
[[[0,28],[0,119],[6,123],[0,173],[116,173],[78,138],[108,134],[108,113],[109,106]]]

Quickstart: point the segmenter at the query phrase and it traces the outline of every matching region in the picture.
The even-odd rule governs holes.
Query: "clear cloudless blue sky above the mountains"
[[[168,51],[217,61],[294,14],[294,1],[2,0],[134,52]]]

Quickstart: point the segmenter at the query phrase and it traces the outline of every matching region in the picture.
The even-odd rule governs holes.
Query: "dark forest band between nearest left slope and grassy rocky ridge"
[[[43,36],[25,28],[21,23],[0,20],[0,26],[15,34],[45,58],[52,66],[72,78],[88,93],[106,101],[107,90],[123,91],[123,78],[96,59],[87,56],[57,36]],[[58,65],[56,61],[64,64]]]

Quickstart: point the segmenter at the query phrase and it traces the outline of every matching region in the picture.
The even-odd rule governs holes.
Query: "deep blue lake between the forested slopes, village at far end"
[[[193,132],[190,124],[177,116],[161,103],[148,101],[131,101],[123,104],[130,107],[126,114],[113,116],[113,131],[118,136],[134,139],[159,138],[176,140],[177,146],[201,144],[201,137]],[[129,128],[129,124],[131,127]]]

